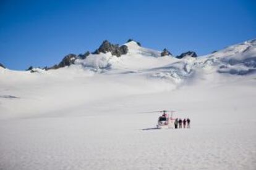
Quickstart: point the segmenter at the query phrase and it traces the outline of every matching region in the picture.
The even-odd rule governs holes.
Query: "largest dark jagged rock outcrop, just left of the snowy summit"
[[[100,54],[100,52],[105,54],[107,52],[111,52],[112,55],[116,55],[117,57],[120,57],[123,54],[127,54],[128,47],[127,46],[119,47],[118,44],[111,44],[110,42],[105,40],[103,41],[101,46],[98,49],[96,49],[95,52],[93,52],[93,54]]]

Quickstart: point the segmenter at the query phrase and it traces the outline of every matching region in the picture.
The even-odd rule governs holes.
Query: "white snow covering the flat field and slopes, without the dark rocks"
[[[198,58],[89,55],[0,68],[0,169],[256,169],[256,41]],[[190,129],[155,129],[157,110]]]

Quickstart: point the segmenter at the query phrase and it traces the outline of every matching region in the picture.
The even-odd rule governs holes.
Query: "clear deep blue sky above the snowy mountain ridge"
[[[0,63],[14,70],[51,66],[94,51],[104,39],[208,54],[256,38],[255,0],[0,0]]]

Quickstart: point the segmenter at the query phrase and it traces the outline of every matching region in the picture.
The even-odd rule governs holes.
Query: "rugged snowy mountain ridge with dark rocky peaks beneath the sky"
[[[93,53],[69,54],[58,65],[44,70],[68,69],[71,65],[72,68],[83,68],[97,73],[144,73],[147,76],[169,78],[176,82],[202,71],[247,75],[254,73],[256,69],[255,41],[245,41],[204,56],[197,56],[195,52],[189,51],[177,57],[167,49],[163,52],[147,49],[132,39],[120,47],[103,41]],[[45,72],[39,68],[28,70]]]

